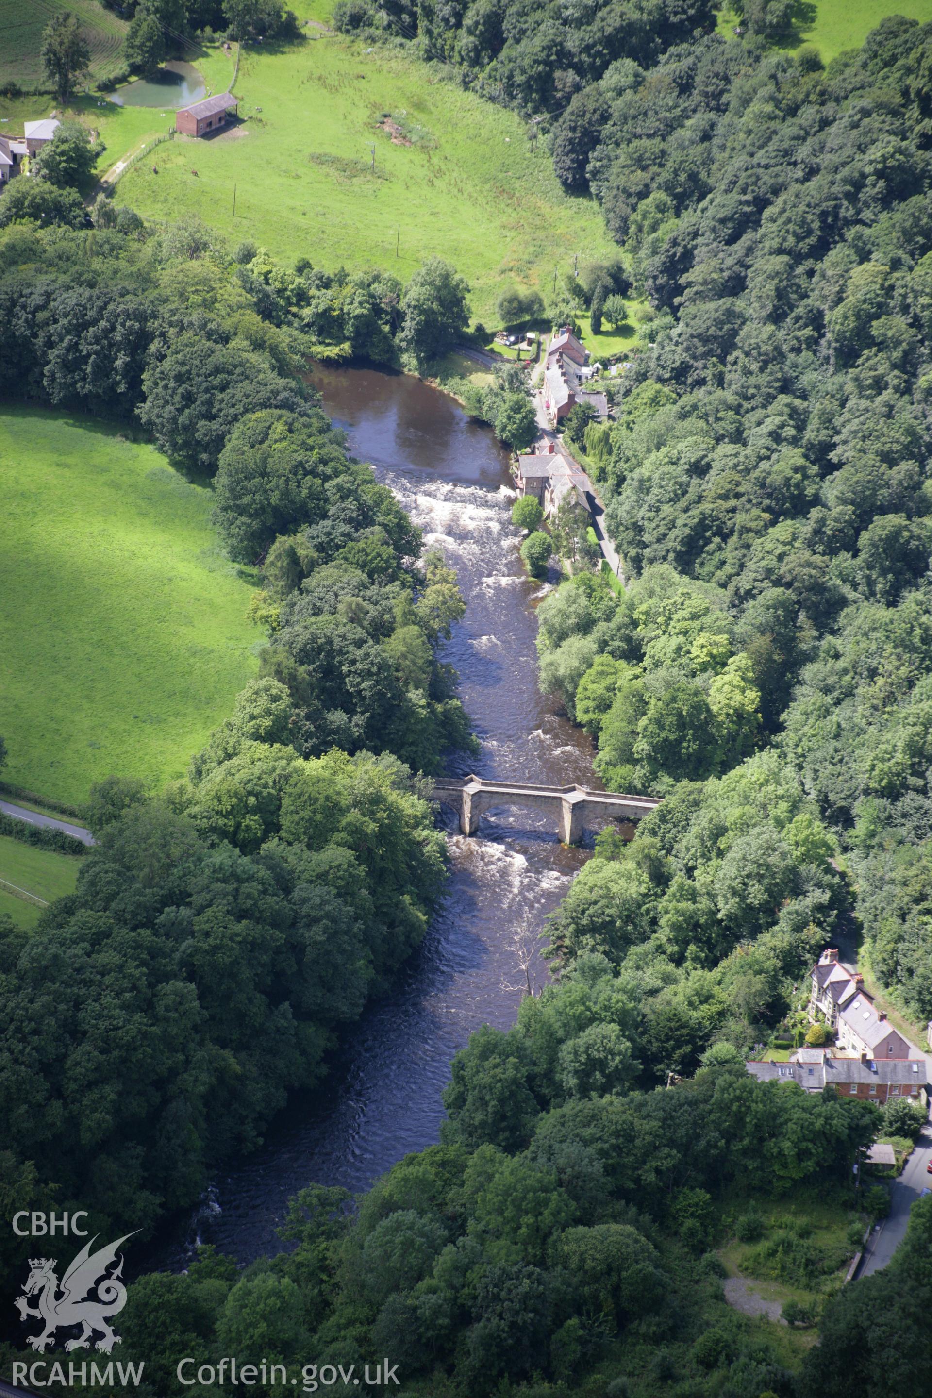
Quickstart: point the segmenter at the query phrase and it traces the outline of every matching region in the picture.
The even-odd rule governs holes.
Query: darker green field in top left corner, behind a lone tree
[[[123,67],[123,39],[129,25],[95,0],[0,0],[0,85],[15,81],[29,88],[48,82],[39,56],[42,31],[63,10],[71,10],[81,21],[95,82]]]

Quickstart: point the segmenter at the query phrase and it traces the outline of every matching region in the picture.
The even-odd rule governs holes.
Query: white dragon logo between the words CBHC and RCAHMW
[[[94,1348],[106,1355],[115,1345],[120,1343],[120,1336],[113,1334],[108,1320],[112,1316],[119,1316],[126,1306],[126,1286],[120,1281],[123,1258],[119,1258],[119,1265],[112,1275],[108,1276],[106,1269],[117,1261],[119,1248],[127,1237],[133,1237],[133,1233],[126,1233],[116,1243],[109,1243],[91,1254],[91,1246],[98,1237],[99,1233],[95,1233],[91,1241],[84,1244],[61,1282],[54,1272],[57,1258],[29,1258],[31,1271],[24,1295],[17,1296],[14,1306],[20,1311],[21,1320],[34,1317],[45,1321],[43,1332],[31,1335],[27,1341],[32,1349],[48,1349],[54,1342],[56,1329],[68,1325],[80,1325],[81,1334],[77,1339],[67,1341],[66,1350],[88,1349],[91,1336],[96,1332],[102,1334],[103,1339],[99,1339]],[[61,1292],[60,1296],[59,1292]],[[96,1292],[98,1299],[88,1299],[89,1292]],[[28,1296],[38,1297],[35,1310],[29,1307]]]

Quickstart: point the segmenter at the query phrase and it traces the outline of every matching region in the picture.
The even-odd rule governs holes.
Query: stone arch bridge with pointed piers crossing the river
[[[437,779],[433,800],[453,807],[460,815],[460,832],[478,835],[485,811],[499,805],[520,805],[525,811],[552,815],[563,844],[578,844],[583,830],[595,821],[620,822],[627,839],[634,826],[650,815],[660,801],[650,795],[620,795],[615,791],[590,791],[588,787],[542,787],[528,781],[489,781],[485,777]]]

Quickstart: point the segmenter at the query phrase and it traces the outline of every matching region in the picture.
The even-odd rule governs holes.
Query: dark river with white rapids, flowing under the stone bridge
[[[354,454],[457,569],[467,612],[444,658],[482,747],[451,773],[595,784],[588,740],[537,688],[534,610],[548,584],[521,568],[507,456],[493,433],[402,375],[327,368],[313,380]],[[196,1241],[243,1262],[278,1251],[288,1199],[305,1184],[363,1190],[439,1139],[453,1055],[481,1025],[514,1022],[516,935],[535,939],[585,858],[527,812],[483,816],[481,839],[450,825],[449,837],[443,905],[393,994],[344,1035],[320,1092],[292,1100],[263,1149],[219,1176],[189,1223],[156,1246],[156,1265],[186,1265]],[[545,979],[542,962],[535,979]]]

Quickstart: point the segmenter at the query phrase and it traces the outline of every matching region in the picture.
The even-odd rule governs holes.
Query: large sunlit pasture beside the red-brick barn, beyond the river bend
[[[546,296],[576,254],[616,254],[595,203],[563,193],[545,143],[532,152],[514,112],[383,45],[305,34],[246,49],[236,81],[246,120],[161,145],[158,173],[148,159],[136,165],[117,201],[145,218],[196,214],[233,243],[327,270],[377,264],[407,280],[437,254],[467,277],[472,313],[489,324],[503,285]],[[380,129],[386,115],[411,144]],[[105,140],[112,164],[120,151]]]

